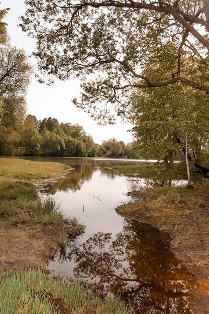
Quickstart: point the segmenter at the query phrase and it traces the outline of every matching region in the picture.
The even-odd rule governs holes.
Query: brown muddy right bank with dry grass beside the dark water
[[[209,313],[209,199],[208,182],[194,191],[186,188],[146,189],[129,193],[133,203],[117,212],[151,224],[169,234],[174,254],[196,277],[194,311]]]

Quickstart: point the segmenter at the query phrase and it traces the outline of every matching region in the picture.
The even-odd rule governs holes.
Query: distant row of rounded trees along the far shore
[[[17,121],[16,121],[17,122]],[[116,138],[96,144],[78,124],[59,123],[55,118],[38,120],[27,115],[22,123],[1,125],[0,154],[28,156],[76,156],[138,158],[134,142],[125,144]]]

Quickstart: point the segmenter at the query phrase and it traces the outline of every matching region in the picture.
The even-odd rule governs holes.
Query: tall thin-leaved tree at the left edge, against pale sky
[[[9,144],[12,141],[16,143],[20,142],[19,131],[26,114],[25,94],[30,82],[31,73],[32,67],[28,62],[25,52],[22,49],[12,47],[8,37],[4,41],[0,41],[1,153],[10,154],[11,151],[8,149]]]

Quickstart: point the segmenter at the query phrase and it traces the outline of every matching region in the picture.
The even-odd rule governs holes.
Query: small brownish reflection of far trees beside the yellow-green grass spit
[[[85,181],[91,179],[94,171],[95,168],[91,164],[79,165],[69,175],[58,179],[57,182],[45,184],[40,188],[40,192],[44,194],[55,194],[57,191],[67,192],[68,190],[76,192],[81,189]]]

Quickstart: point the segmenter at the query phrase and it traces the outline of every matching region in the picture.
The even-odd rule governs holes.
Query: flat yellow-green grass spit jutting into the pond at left
[[[70,167],[53,162],[33,162],[17,158],[1,158],[0,177],[38,181],[62,176]]]

